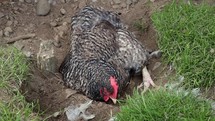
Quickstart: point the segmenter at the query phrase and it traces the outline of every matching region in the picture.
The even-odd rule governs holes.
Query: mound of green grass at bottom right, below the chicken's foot
[[[117,121],[214,121],[209,102],[191,94],[155,90],[128,97],[116,115]]]

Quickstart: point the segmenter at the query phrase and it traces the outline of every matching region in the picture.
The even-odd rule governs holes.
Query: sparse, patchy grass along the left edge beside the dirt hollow
[[[34,104],[27,103],[19,88],[29,71],[25,56],[13,47],[0,47],[0,120],[38,120]]]

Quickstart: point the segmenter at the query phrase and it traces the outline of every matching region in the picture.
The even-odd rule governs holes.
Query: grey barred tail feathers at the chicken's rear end
[[[101,21],[110,22],[116,29],[123,28],[117,13],[86,6],[72,17],[72,29],[74,32],[90,31]]]

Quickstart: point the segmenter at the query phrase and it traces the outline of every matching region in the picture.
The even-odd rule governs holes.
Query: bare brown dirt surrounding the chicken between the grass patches
[[[69,27],[70,18],[75,12],[80,10],[80,8],[86,4],[94,4],[95,6],[103,7],[106,10],[120,12],[121,20],[128,25],[130,31],[134,32],[137,39],[148,49],[157,50],[156,32],[153,29],[150,16],[155,10],[162,9],[162,7],[170,0],[139,0],[137,3],[132,3],[129,8],[117,7],[105,0],[97,0],[97,2],[94,3],[89,0],[76,2],[67,0],[68,2],[66,3],[62,1],[64,0],[56,0],[56,4],[51,6],[51,11],[47,16],[37,16],[35,13],[36,3],[34,1],[27,3],[19,2],[18,0],[0,0],[0,12],[4,14],[4,16],[0,18],[0,31],[4,30],[8,21],[12,21],[12,25],[9,26],[12,28],[13,32],[10,34],[9,38],[30,33],[36,34],[35,38],[20,41],[24,45],[23,50],[32,52],[34,57],[31,64],[30,78],[23,83],[21,90],[27,101],[39,103],[40,108],[35,109],[35,111],[44,112],[44,115],[42,116],[43,118],[63,110],[69,105],[79,105],[86,102],[86,100],[89,100],[86,96],[79,93],[67,97],[69,89],[63,85],[59,73],[45,75],[36,67],[35,56],[36,53],[38,53],[41,40],[55,41],[55,37],[58,35],[58,32],[55,30],[56,27],[50,25],[51,22],[56,22],[57,26],[62,26],[64,22],[67,22]],[[121,1],[125,3],[125,1]],[[60,13],[61,8],[66,10],[65,15]],[[134,22],[139,19],[145,21],[146,29],[144,32],[138,31],[133,26]],[[58,60],[58,67],[63,61],[69,48],[69,31],[69,29],[64,31],[64,34],[60,37],[59,41],[61,47],[54,48],[55,56]],[[0,36],[0,39],[1,38],[4,39],[4,37]],[[151,60],[148,68],[155,83],[157,85],[163,85],[168,81],[165,76],[167,66],[162,64],[157,69],[153,70],[152,68],[156,62],[161,62],[161,60]],[[133,89],[141,83],[141,78],[142,77],[139,76],[132,79],[131,84],[126,89],[126,94],[132,94]],[[72,93],[74,91],[69,90],[69,92]],[[120,99],[124,98],[125,96],[122,96]],[[119,105],[94,101],[88,111],[96,115],[93,121],[107,121],[111,117],[111,112],[114,115],[119,111]],[[48,120],[64,121],[66,120],[66,116],[61,114],[58,117],[51,117]]]

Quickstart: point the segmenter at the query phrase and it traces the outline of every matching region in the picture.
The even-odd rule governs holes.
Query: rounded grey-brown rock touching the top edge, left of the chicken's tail
[[[37,2],[36,13],[38,16],[45,16],[49,13],[51,5],[48,0],[39,0]]]

